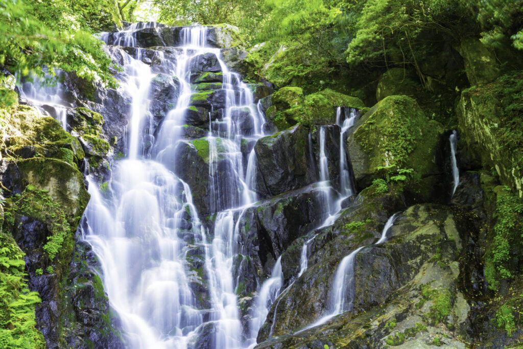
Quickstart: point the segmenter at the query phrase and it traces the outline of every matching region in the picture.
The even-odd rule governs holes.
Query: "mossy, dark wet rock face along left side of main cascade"
[[[10,194],[3,204],[9,217],[3,231],[26,254],[29,287],[42,300],[36,306],[37,328],[50,348],[90,343],[122,347],[118,322],[110,320],[111,309],[94,269],[96,258],[85,246],[75,247],[81,239],[75,231],[89,200],[78,167],[84,154],[92,153],[58,121],[31,107],[15,105],[0,114],[11,125],[2,131],[2,138],[9,140],[7,152],[15,154],[2,161],[2,184]],[[70,123],[86,136],[99,134],[103,119],[79,108]]]

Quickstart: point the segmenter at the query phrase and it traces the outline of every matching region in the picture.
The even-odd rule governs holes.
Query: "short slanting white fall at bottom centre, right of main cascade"
[[[281,285],[283,284],[283,273],[281,271],[281,256],[278,257],[270,278],[261,286],[254,306],[253,318],[251,320],[251,338],[256,345],[256,336],[261,325],[265,322],[269,308],[278,298]],[[252,347],[254,347],[252,344]]]

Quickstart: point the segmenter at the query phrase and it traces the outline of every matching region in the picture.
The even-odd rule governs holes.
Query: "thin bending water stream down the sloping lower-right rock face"
[[[400,215],[401,212],[396,212],[394,215],[389,217],[386,221],[385,226],[381,232],[381,237],[373,245],[378,245],[384,243],[388,239],[388,232],[392,228],[394,221]],[[372,246],[372,245],[369,245]],[[329,297],[329,313],[324,317],[320,318],[311,325],[306,326],[301,329],[299,332],[311,329],[313,327],[324,324],[333,317],[352,310],[353,309],[353,300],[354,300],[354,267],[356,263],[356,256],[358,253],[368,246],[358,247],[356,250],[350,252],[345,256],[342,261],[339,262],[336,272],[333,279],[333,288],[331,290],[331,295]]]

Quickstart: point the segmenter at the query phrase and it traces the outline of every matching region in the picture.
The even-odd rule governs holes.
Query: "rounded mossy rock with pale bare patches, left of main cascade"
[[[16,162],[21,174],[22,186],[33,185],[47,190],[49,196],[65,208],[71,217],[83,214],[89,193],[85,189],[84,176],[71,164],[56,159],[34,157]]]

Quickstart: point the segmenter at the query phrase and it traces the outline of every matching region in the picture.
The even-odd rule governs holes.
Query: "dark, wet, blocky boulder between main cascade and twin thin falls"
[[[309,132],[297,125],[260,138],[254,146],[258,170],[257,192],[277,195],[316,182]]]

